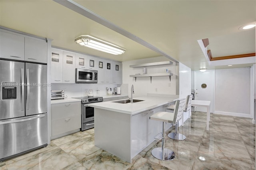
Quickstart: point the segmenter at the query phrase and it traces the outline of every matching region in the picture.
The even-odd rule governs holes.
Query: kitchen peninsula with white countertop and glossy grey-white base
[[[162,131],[162,122],[152,121],[149,117],[156,112],[166,111],[168,104],[177,100],[176,97],[152,96],[134,99],[141,101],[108,101],[88,105],[94,107],[95,146],[127,162],[131,162]],[[170,124],[166,125],[166,129],[170,127]]]

